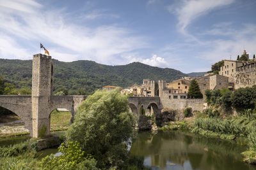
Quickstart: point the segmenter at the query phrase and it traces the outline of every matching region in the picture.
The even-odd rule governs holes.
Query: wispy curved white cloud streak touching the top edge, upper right
[[[233,3],[234,0],[182,0],[177,8],[169,6],[168,10],[175,13],[178,18],[179,31],[188,35],[186,27],[196,18],[209,13],[220,6]]]

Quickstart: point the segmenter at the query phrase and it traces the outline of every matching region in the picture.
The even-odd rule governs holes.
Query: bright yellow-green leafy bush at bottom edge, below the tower
[[[39,163],[41,169],[98,169],[96,167],[97,161],[90,156],[84,157],[81,147],[77,141],[70,142],[66,147],[64,143],[61,144],[58,152],[61,155],[54,157],[53,154],[47,155]]]

